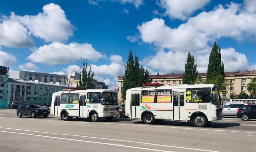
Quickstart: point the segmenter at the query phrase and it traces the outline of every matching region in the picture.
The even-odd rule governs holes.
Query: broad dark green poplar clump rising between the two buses
[[[132,51],[128,56],[128,61],[125,66],[123,76],[123,87],[122,87],[122,98],[126,98],[126,90],[133,87],[142,87],[143,83],[150,83],[152,79],[149,79],[149,72],[142,65],[138,57],[135,56],[133,59]]]

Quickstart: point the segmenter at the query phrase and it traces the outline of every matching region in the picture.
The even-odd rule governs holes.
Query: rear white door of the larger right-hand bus
[[[131,118],[140,118],[140,94],[131,94]]]

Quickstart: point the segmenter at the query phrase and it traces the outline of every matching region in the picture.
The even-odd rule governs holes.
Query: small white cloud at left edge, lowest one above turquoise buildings
[[[1,51],[0,47],[0,66],[12,66],[17,63],[16,57],[6,52]]]

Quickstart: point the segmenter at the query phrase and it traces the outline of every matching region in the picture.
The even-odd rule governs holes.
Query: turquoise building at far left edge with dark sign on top
[[[8,67],[0,66],[0,108],[8,108]]]

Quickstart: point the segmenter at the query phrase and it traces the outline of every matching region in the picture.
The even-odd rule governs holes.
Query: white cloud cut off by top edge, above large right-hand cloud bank
[[[158,0],[156,4],[164,8],[171,19],[186,20],[194,11],[202,9],[211,0]]]

